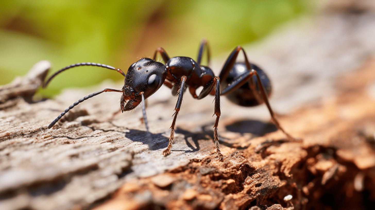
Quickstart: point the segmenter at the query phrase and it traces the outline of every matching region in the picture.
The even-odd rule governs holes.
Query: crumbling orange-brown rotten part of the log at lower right
[[[224,140],[223,162],[210,155],[129,181],[96,210],[249,209],[254,205],[263,209],[371,208],[375,201],[375,62],[345,75],[337,87],[340,91],[334,98],[281,117],[293,135],[303,136],[303,143],[286,142],[279,131],[254,139],[236,138],[234,144]],[[287,195],[293,199],[285,201]]]

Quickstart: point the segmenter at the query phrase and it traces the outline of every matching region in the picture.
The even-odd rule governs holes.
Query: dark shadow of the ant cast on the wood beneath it
[[[172,149],[172,151],[184,151],[185,153],[199,151],[201,147],[199,146],[198,140],[211,140],[212,141],[214,132],[213,130],[210,129],[211,127],[212,127],[212,124],[205,124],[201,126],[201,131],[199,132],[190,132],[190,131],[181,129],[180,127],[177,127],[175,129],[175,133],[184,135],[185,143],[187,147],[190,148],[190,150]],[[244,133],[252,133],[257,136],[263,136],[266,133],[270,133],[270,132],[274,132],[278,130],[277,127],[272,123],[263,123],[257,120],[236,121],[232,124],[225,126],[225,128],[226,130],[231,131],[231,132],[241,133],[241,135],[243,135]],[[146,131],[130,129],[129,132],[125,132],[125,137],[130,139],[131,141],[142,142],[143,144],[148,144],[150,140],[149,137],[151,137],[152,148],[150,150],[159,150],[162,148],[166,148],[168,146],[169,138],[166,136],[163,136],[163,134],[164,133],[148,134]],[[234,146],[234,144],[225,141],[225,139],[228,140],[227,138],[220,137],[220,139],[224,139],[224,141],[219,140],[220,144],[223,144],[227,147],[238,148]],[[239,148],[239,149],[244,149],[244,148]]]

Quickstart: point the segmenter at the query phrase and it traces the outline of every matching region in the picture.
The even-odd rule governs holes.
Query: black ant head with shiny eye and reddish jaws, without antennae
[[[155,93],[164,83],[166,68],[150,58],[141,58],[133,63],[127,70],[124,82],[124,95],[121,98],[122,111],[134,109],[141,101],[140,93],[148,98]],[[128,101],[125,105],[124,102]]]

